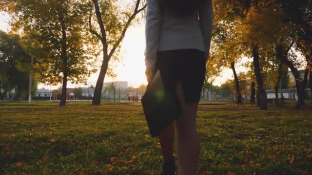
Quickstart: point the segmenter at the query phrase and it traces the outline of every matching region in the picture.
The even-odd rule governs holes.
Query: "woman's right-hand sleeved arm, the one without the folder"
[[[208,58],[213,27],[212,0],[206,0],[205,3],[199,8],[199,19]]]

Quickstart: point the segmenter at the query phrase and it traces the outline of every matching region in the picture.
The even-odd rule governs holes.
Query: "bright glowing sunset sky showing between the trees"
[[[9,31],[9,15],[0,12],[0,30]],[[137,88],[141,84],[147,84],[145,78],[145,62],[144,62],[144,50],[145,50],[145,30],[144,24],[130,27],[125,35],[125,38],[121,45],[120,62],[112,62],[113,71],[117,75],[114,79],[105,77],[105,82],[110,81],[128,81],[129,86]],[[100,59],[101,60],[101,59]],[[237,72],[244,71],[243,67],[237,68]],[[88,81],[88,85],[94,85],[99,73],[92,74]],[[213,85],[221,85],[227,79],[232,79],[232,71],[225,69],[222,71],[220,77],[217,77],[213,82]],[[61,85],[61,84],[60,84]],[[54,89],[57,86],[50,86],[45,84],[39,84],[38,88]],[[84,84],[72,84],[68,82],[68,88],[76,88],[79,86],[85,86]]]

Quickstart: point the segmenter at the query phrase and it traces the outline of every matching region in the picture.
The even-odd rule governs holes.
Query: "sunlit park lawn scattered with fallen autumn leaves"
[[[200,174],[311,174],[312,108],[201,104]],[[0,174],[159,174],[139,103],[0,102]]]

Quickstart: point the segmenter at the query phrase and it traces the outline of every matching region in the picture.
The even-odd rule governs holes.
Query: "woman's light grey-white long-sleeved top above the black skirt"
[[[146,67],[154,67],[158,51],[197,49],[209,53],[212,33],[212,0],[191,16],[178,16],[160,8],[160,0],[147,0],[145,25]]]

